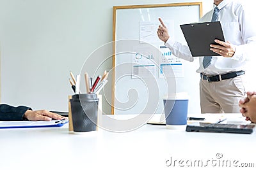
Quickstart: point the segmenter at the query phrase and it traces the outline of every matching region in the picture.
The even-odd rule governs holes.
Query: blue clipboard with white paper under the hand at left
[[[32,127],[61,127],[67,124],[68,120],[51,121],[0,121],[0,129],[8,128],[32,128]]]

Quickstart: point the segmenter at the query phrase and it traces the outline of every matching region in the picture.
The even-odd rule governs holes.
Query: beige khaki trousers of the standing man
[[[200,80],[201,113],[240,113],[239,100],[244,97],[243,75],[222,81]]]

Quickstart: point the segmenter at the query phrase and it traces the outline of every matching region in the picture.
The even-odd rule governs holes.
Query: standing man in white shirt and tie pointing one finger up
[[[214,41],[212,52],[221,56],[200,57],[200,106],[202,113],[239,113],[239,100],[244,97],[243,74],[246,61],[255,55],[256,29],[252,16],[242,4],[231,0],[214,0],[214,8],[200,18],[199,22],[220,21],[227,42]],[[159,18],[159,39],[164,41],[173,55],[193,61],[188,46],[175,41]]]

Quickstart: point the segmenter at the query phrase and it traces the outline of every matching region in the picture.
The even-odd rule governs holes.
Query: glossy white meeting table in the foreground
[[[256,159],[254,156],[250,157],[255,152],[255,132],[185,132],[166,129],[164,125],[147,124],[122,133],[99,129],[95,132],[72,134],[68,132],[68,124],[52,128],[0,129],[0,169],[3,170],[186,169],[186,162],[199,160],[204,165],[207,164],[203,169],[216,169],[212,166],[214,164],[210,164],[214,160],[217,160],[216,163],[219,160],[237,160],[237,166],[241,163],[253,163],[255,168]],[[221,154],[223,157],[217,159]],[[176,162],[168,167],[166,161],[171,157]],[[183,163],[178,164],[182,160]],[[210,162],[207,163],[207,160]],[[184,167],[180,167],[182,165]]]

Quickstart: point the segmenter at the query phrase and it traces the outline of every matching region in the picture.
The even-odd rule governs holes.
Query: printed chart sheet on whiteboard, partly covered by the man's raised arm
[[[159,78],[184,77],[182,59],[172,55],[165,45],[159,46],[162,55],[159,56]]]

